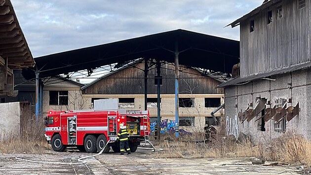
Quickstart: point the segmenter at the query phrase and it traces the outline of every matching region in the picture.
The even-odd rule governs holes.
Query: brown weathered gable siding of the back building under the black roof
[[[144,64],[138,64],[137,67],[144,69]],[[173,65],[162,65],[161,76],[163,78],[174,78],[175,67]],[[83,90],[83,94],[144,94],[144,72],[138,68],[128,68],[120,70],[111,76],[98,81],[97,83],[89,86]],[[215,88],[221,83],[209,77],[203,77],[194,69],[184,70],[188,73],[180,73],[179,92],[181,94],[222,94],[223,88]],[[189,74],[191,73],[191,74]],[[156,67],[148,72],[149,78],[156,76]],[[132,79],[131,79],[132,78]],[[184,78],[184,79],[182,79]],[[190,78],[190,79],[189,79]],[[201,79],[197,79],[201,78]],[[189,85],[189,86],[188,86]],[[157,88],[154,84],[154,79],[148,79],[148,94],[156,94]],[[161,86],[161,94],[174,94],[175,93],[175,80],[163,79]]]

